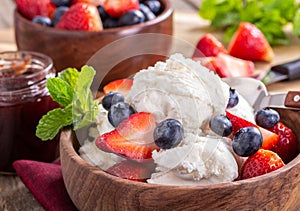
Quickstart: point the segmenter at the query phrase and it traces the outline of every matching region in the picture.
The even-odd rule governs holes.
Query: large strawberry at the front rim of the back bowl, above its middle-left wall
[[[56,28],[100,31],[103,29],[103,26],[96,6],[87,3],[77,3],[64,13]]]

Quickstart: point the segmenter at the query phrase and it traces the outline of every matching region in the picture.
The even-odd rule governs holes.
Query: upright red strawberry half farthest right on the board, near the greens
[[[272,61],[274,52],[264,34],[253,24],[242,22],[233,35],[229,54],[251,61]]]

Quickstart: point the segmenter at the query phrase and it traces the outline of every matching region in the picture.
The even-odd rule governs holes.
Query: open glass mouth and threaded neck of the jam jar
[[[45,78],[53,77],[54,74],[52,59],[42,53],[31,51],[0,53],[0,92],[28,88]]]

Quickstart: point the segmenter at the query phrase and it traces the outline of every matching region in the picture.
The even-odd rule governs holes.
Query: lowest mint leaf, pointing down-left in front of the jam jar
[[[51,110],[40,119],[36,136],[43,141],[53,139],[62,127],[71,125],[72,122],[71,106]]]

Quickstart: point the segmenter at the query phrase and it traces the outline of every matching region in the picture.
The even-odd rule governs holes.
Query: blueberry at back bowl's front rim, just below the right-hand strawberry
[[[145,15],[140,10],[129,10],[119,18],[120,26],[129,26],[145,22]]]

